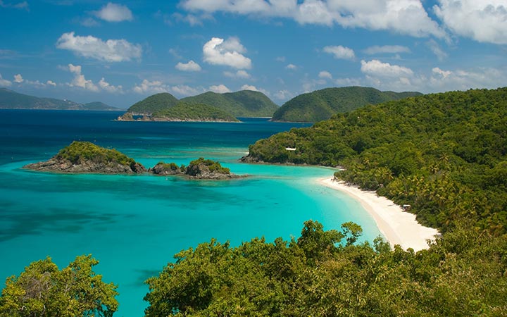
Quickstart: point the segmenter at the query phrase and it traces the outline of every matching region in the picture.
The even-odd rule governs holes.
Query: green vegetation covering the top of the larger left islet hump
[[[58,154],[57,159],[66,159],[74,164],[83,161],[93,161],[94,163],[115,162],[125,166],[134,166],[134,159],[115,149],[105,149],[92,142],[74,141],[68,147],[64,147]]]

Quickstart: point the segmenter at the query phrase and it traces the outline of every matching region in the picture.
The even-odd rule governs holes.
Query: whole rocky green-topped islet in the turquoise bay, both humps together
[[[48,161],[23,166],[29,170],[55,173],[96,173],[96,174],[142,174],[181,175],[199,180],[228,180],[242,178],[242,175],[230,173],[217,161],[199,158],[189,166],[178,167],[175,163],[160,162],[154,168],[146,168],[134,159],[115,149],[105,149],[92,142],[74,141],[64,147]]]

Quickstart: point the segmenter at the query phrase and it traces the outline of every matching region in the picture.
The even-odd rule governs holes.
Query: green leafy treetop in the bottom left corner
[[[113,316],[118,292],[92,271],[98,263],[92,256],[77,256],[62,270],[49,258],[30,263],[18,277],[7,278],[0,316]]]

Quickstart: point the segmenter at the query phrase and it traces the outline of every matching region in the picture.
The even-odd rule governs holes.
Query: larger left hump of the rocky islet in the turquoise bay
[[[115,149],[105,149],[91,142],[72,142],[48,161],[23,168],[57,173],[139,174],[146,168]]]

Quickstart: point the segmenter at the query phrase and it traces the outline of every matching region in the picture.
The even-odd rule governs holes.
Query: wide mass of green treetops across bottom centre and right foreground
[[[414,254],[355,245],[358,229],[307,221],[290,242],[199,244],[146,281],[146,316],[505,316],[505,236],[456,228]]]

